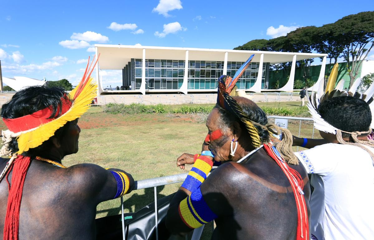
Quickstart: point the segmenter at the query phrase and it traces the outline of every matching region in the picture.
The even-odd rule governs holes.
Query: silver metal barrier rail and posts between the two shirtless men
[[[135,181],[135,188],[134,190],[140,190],[144,188],[154,188],[154,221],[156,224],[156,240],[159,239],[159,234],[158,234],[158,217],[157,217],[157,187],[158,186],[163,186],[163,185],[168,185],[168,184],[174,184],[178,182],[183,182],[184,179],[186,179],[187,173],[182,173],[182,174],[176,174],[176,175],[170,175],[170,176],[163,176],[159,178],[150,178],[150,179],[144,179],[144,180],[138,180]],[[122,237],[123,240],[126,240],[125,236],[125,219],[123,215],[123,197],[121,197],[121,218],[122,218]],[[199,240],[200,236],[202,234],[204,225],[202,227],[196,228],[193,231],[192,238],[191,240]],[[187,239],[187,236],[186,236]]]

